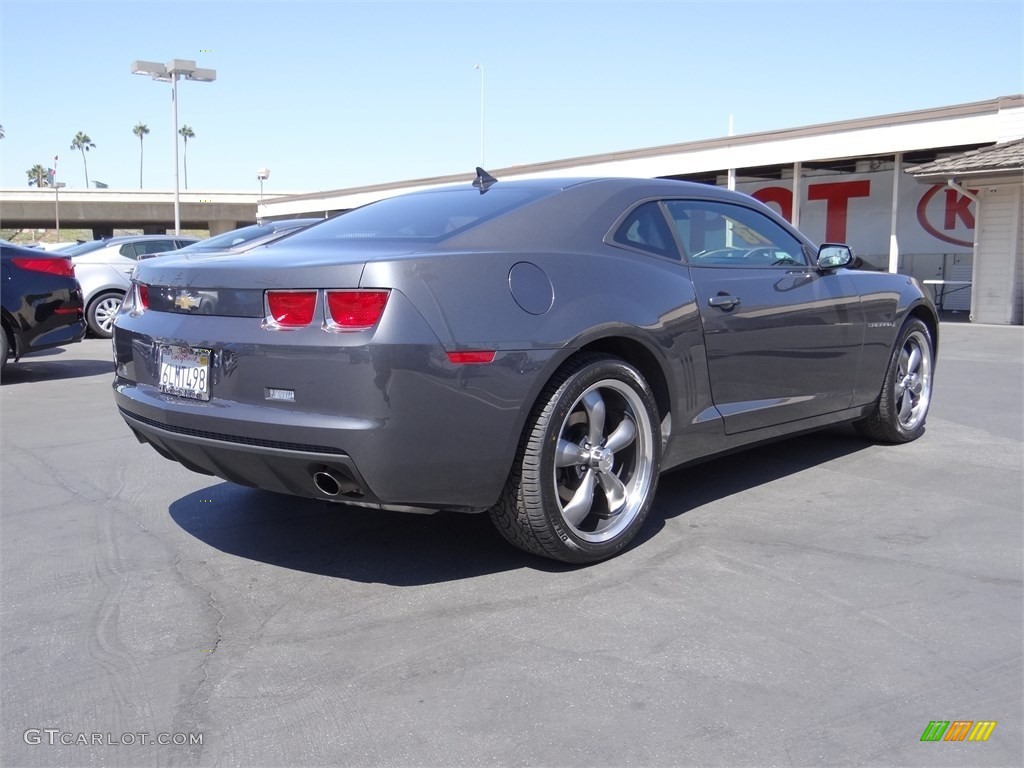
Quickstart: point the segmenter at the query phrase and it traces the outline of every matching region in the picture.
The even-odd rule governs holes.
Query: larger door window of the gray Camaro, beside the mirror
[[[807,265],[800,241],[763,213],[701,200],[672,200],[666,207],[694,266]]]

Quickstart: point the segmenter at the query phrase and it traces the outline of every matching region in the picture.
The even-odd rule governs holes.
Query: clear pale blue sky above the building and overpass
[[[1024,91],[1024,3],[27,2],[0,0],[0,186],[52,165],[172,186],[179,85],[191,189],[268,196],[469,172]],[[182,179],[183,183],[183,179]]]

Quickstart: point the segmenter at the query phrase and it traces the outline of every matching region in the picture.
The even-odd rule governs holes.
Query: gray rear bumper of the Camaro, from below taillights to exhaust
[[[489,507],[515,456],[523,403],[554,351],[454,366],[418,314],[401,311],[389,305],[372,338],[275,333],[249,318],[122,314],[114,397],[140,440],[231,482],[334,501]],[[212,350],[210,400],[160,391],[162,344]],[[266,388],[291,389],[294,400],[269,400]],[[313,483],[325,471],[339,479],[335,496]]]

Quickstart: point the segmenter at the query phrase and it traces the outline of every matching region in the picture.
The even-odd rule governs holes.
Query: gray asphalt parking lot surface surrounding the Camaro
[[[1024,760],[1024,329],[943,325],[921,440],[666,475],[583,568],[482,516],[189,473],[117,415],[110,351],[0,388],[4,765]],[[921,741],[935,720],[997,725]]]

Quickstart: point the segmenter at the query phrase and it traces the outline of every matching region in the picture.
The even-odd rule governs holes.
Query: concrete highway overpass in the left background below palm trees
[[[163,234],[174,229],[174,193],[148,189],[0,189],[0,227],[92,229],[94,238],[115,229]],[[196,191],[179,194],[182,229],[218,234],[256,222],[259,193]]]

